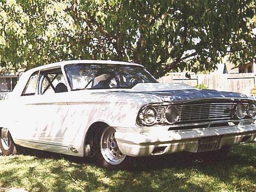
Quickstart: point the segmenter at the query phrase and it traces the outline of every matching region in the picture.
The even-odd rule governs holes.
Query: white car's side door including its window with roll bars
[[[67,130],[67,83],[61,67],[41,70],[38,78],[38,96],[35,105],[37,122],[32,142],[65,145]],[[33,105],[33,104],[32,104]]]

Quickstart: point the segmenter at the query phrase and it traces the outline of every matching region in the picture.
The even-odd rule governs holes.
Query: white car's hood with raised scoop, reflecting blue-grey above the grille
[[[206,99],[206,98],[247,98],[246,95],[234,92],[197,89],[195,87],[180,83],[140,83],[131,89],[132,92],[140,92],[159,96],[163,102],[184,99]]]

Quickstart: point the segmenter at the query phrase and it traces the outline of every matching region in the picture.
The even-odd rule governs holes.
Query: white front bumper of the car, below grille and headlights
[[[218,148],[252,142],[256,137],[256,125],[234,125],[211,128],[193,128],[170,130],[170,126],[151,126],[140,128],[116,129],[117,145],[123,154],[142,157],[158,154],[170,154],[181,151],[196,153],[199,139],[220,137]]]

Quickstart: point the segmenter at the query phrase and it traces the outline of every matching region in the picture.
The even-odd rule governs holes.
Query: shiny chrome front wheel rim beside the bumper
[[[126,155],[119,150],[115,130],[111,127],[106,128],[101,137],[100,150],[103,158],[111,165],[119,165],[125,160]]]

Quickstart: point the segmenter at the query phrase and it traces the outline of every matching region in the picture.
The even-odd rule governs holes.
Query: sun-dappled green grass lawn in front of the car
[[[109,171],[46,152],[0,157],[0,187],[28,191],[254,191],[256,144],[233,146],[227,160],[199,163],[190,154],[140,158],[133,170]]]

